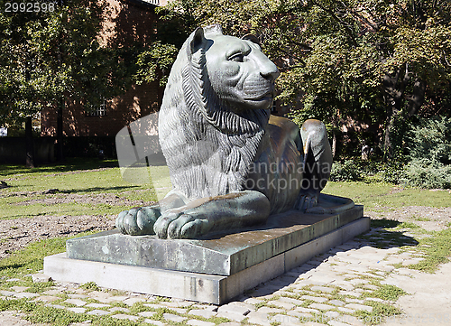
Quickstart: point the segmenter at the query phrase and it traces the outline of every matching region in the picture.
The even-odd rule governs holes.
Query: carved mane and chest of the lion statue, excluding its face
[[[222,35],[218,25],[204,33],[207,40]],[[189,200],[244,190],[270,116],[268,109],[235,111],[218,98],[207,73],[207,50],[189,53],[193,34],[170,71],[159,116],[170,181]]]

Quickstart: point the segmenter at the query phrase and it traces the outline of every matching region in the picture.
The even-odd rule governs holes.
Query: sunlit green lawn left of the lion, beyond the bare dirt
[[[126,200],[151,201],[157,200],[156,194],[161,198],[170,190],[167,167],[153,167],[153,184],[138,185],[125,182],[118,167],[103,166],[117,166],[117,163],[76,159],[69,164],[34,169],[0,165],[0,180],[9,186],[0,190],[0,219],[116,214],[128,206],[111,205],[103,200],[107,194]],[[51,199],[57,203],[48,204]]]

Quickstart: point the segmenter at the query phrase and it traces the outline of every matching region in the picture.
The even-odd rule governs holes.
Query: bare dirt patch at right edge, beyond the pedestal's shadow
[[[365,210],[364,215],[372,219],[393,219],[412,222],[427,231],[440,231],[451,223],[451,207],[405,206],[400,209],[379,208],[384,211]]]

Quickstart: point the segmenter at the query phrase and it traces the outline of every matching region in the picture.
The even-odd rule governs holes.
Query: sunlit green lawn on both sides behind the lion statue
[[[102,168],[105,166],[116,166]],[[102,200],[107,194],[121,199],[151,201],[161,199],[170,190],[169,171],[152,167],[153,184],[132,184],[123,180],[116,161],[71,159],[59,165],[26,169],[0,165],[0,180],[10,187],[0,190],[0,219],[32,218],[39,215],[116,214],[126,205],[112,205]],[[50,191],[55,190],[58,191]],[[53,193],[52,193],[53,192]],[[401,189],[389,183],[328,182],[325,193],[348,197],[365,210],[387,210],[402,206],[449,207],[448,191]],[[72,201],[48,204],[44,199]],[[85,202],[87,198],[96,199]],[[55,200],[54,200],[55,201]],[[58,200],[56,200],[58,202]]]

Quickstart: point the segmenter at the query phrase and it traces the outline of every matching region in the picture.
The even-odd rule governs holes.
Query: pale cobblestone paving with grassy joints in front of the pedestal
[[[66,283],[56,283],[43,293],[13,286],[9,291],[0,291],[0,298],[28,298],[59,310],[155,326],[180,322],[191,326],[364,325],[381,323],[382,314],[397,308],[402,313],[382,323],[451,324],[451,265],[443,265],[434,275],[407,268],[423,259],[414,248],[415,239],[405,233],[391,240],[386,232],[373,228],[365,237],[316,256],[221,306],[107,289],[88,290],[88,286]],[[399,247],[400,239],[407,249]],[[401,289],[408,294],[399,299]],[[20,319],[21,314],[15,314],[1,312],[0,324],[31,325]],[[87,319],[72,325],[91,322]]]

